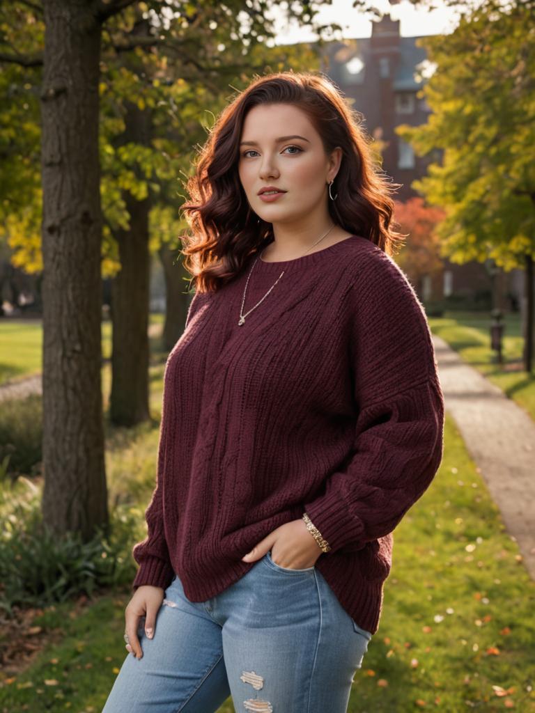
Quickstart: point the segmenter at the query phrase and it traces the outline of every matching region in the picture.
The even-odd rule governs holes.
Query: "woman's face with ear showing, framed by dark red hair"
[[[291,104],[261,104],[248,112],[240,138],[238,172],[252,210],[271,223],[327,217],[327,190],[341,149],[327,156],[307,114]],[[262,188],[279,188],[260,198]]]

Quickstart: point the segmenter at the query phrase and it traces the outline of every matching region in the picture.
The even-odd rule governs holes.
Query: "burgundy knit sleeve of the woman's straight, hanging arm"
[[[195,292],[188,308],[185,329],[187,329],[193,315],[203,301],[203,295]],[[162,399],[162,417],[160,426],[160,441],[158,445],[158,478],[156,488],[153,491],[151,502],[145,511],[147,522],[147,536],[143,542],[134,545],[132,555],[138,563],[139,568],[136,578],[133,581],[133,589],[136,590],[141,585],[152,585],[153,587],[167,588],[173,580],[173,566],[170,563],[169,550],[165,540],[163,529],[163,464],[165,462],[165,446],[168,439],[169,421],[172,419],[168,403],[171,400],[165,393],[165,376],[163,379],[164,393]]]

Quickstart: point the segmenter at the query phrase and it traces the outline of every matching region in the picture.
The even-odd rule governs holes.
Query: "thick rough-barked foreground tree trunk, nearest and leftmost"
[[[101,25],[86,0],[44,0],[43,515],[58,535],[108,526],[101,394]]]

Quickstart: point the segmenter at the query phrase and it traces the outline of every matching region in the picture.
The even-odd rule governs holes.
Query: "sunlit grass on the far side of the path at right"
[[[524,339],[519,314],[506,314],[502,340],[504,364],[496,363],[490,347],[491,317],[486,312],[446,312],[444,317],[429,317],[434,334],[442,337],[463,361],[481,371],[535,419],[535,371],[526,374],[522,364]]]

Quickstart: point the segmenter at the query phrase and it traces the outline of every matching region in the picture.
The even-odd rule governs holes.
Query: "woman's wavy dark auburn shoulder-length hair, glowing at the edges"
[[[182,210],[193,235],[181,235],[184,267],[198,292],[213,292],[240,274],[255,253],[274,240],[272,224],[251,210],[238,174],[240,138],[248,111],[259,104],[288,103],[304,111],[325,152],[342,148],[329,200],[332,221],[392,255],[404,236],[391,227],[399,188],[374,163],[362,114],[323,73],[277,72],[256,78],[218,116],[201,148]],[[397,225],[397,224],[396,224]]]

